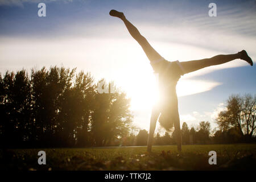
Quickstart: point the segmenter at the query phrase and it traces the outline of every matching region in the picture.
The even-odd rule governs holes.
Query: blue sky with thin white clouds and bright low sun
[[[46,16],[38,16],[38,4]],[[210,17],[209,3],[217,16]],[[131,98],[134,123],[149,129],[157,80],[139,44],[122,21],[125,13],[165,59],[189,61],[245,49],[256,60],[256,1],[0,0],[0,72],[63,65],[106,78]],[[255,62],[254,62],[255,63]],[[209,121],[231,94],[255,94],[256,68],[240,59],[181,76],[180,125]],[[157,129],[162,131],[157,125]]]

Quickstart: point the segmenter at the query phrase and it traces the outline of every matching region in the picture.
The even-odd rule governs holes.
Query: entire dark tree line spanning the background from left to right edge
[[[116,87],[97,92],[102,85],[108,84],[90,73],[56,66],[31,69],[30,75],[24,69],[0,75],[0,146],[146,145],[148,133],[136,132],[125,92]],[[256,95],[230,96],[214,130],[207,121],[191,129],[183,122],[183,144],[255,142],[255,103]],[[176,144],[175,135],[175,130],[158,133],[154,144]]]

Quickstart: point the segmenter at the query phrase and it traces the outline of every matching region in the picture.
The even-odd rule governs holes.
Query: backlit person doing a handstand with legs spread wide
[[[173,126],[175,127],[175,131],[177,132],[177,149],[178,151],[181,151],[180,118],[176,94],[176,84],[180,76],[212,65],[224,64],[234,59],[245,60],[251,66],[253,65],[253,61],[247,55],[246,51],[242,50],[238,53],[230,55],[217,55],[208,59],[170,62],[165,60],[159,55],[158,52],[155,51],[154,48],[150,46],[146,38],[144,38],[138,29],[126,19],[122,12],[111,10],[109,14],[123,20],[123,23],[125,23],[125,26],[131,36],[137,40],[146,53],[155,73],[158,73],[159,75],[160,101],[152,108],[147,150],[149,152],[151,151],[156,121],[160,115],[159,123],[166,130],[170,130]]]

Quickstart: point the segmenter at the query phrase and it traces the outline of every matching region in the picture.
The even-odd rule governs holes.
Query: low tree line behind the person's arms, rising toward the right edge
[[[240,94],[231,95],[226,101],[226,108],[218,113],[216,123],[218,127],[210,129],[210,123],[202,121],[197,127],[188,128],[186,122],[181,127],[183,144],[222,144],[222,143],[248,143],[256,142],[256,95]],[[133,143],[138,146],[146,145],[148,133],[146,130],[139,131],[137,137],[131,135]],[[131,139],[128,139],[130,141]],[[135,142],[134,142],[135,141]],[[127,144],[127,143],[126,143]],[[154,137],[155,145],[176,144],[175,130]]]

